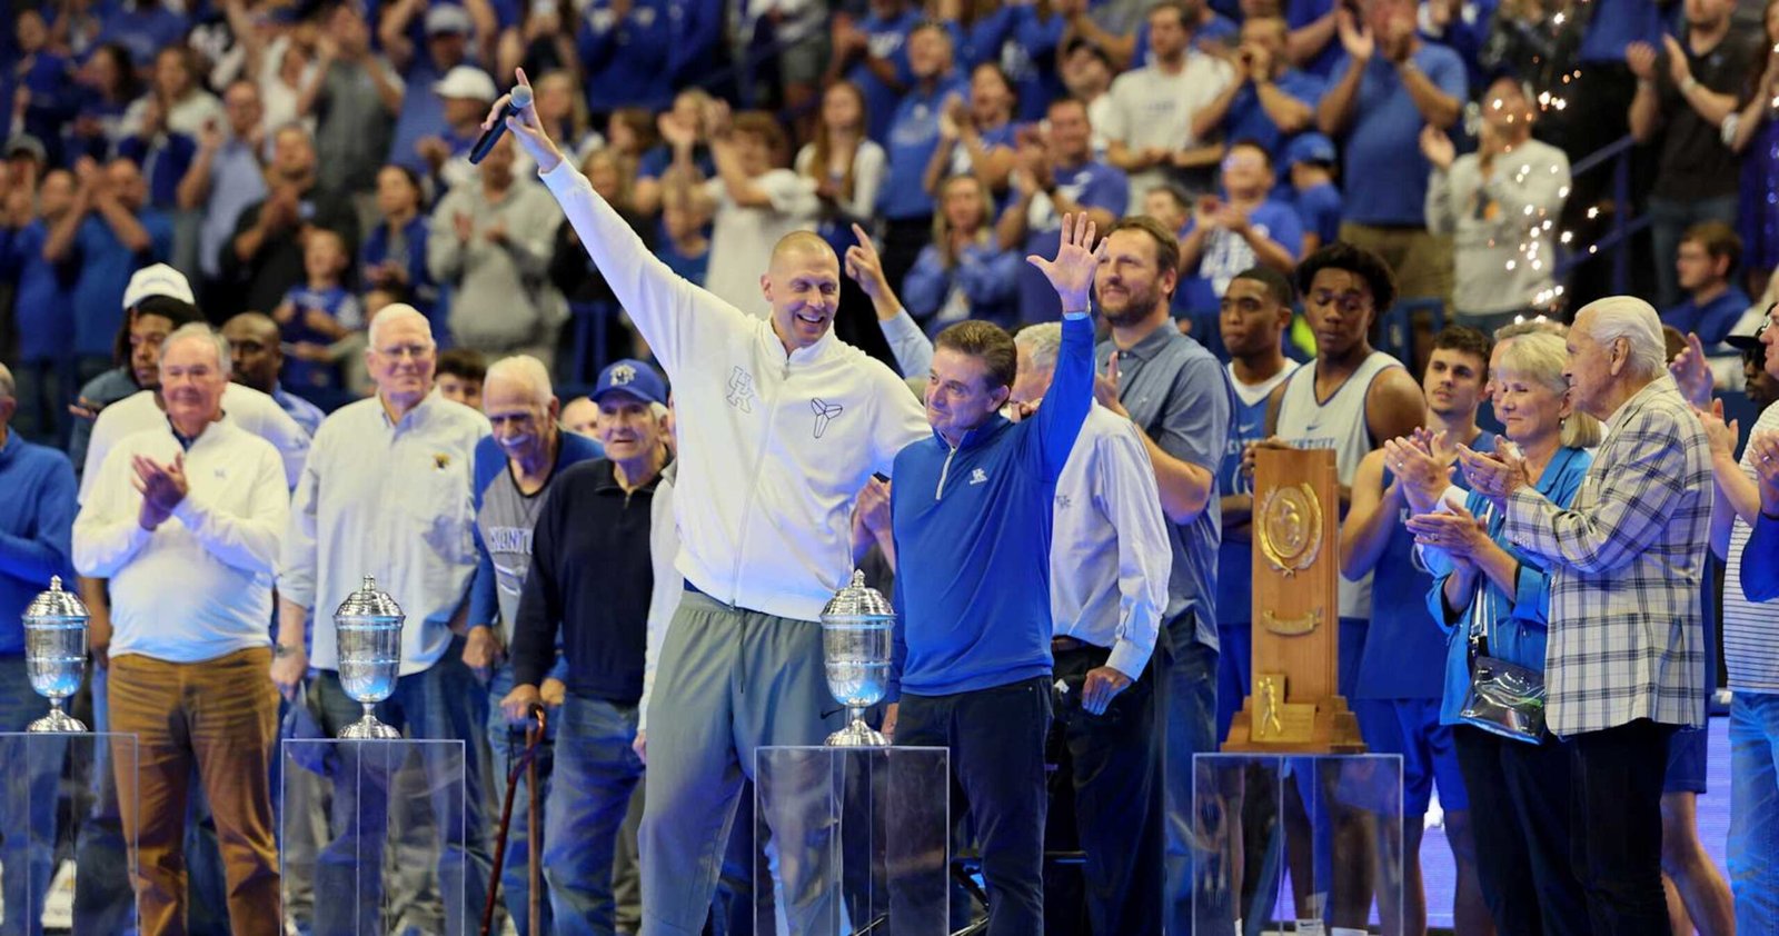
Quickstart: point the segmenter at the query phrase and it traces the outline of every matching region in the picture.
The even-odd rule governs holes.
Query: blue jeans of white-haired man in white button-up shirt
[[[322,730],[329,737],[363,715],[363,706],[345,694],[334,671],[320,671],[311,692],[320,701]],[[484,813],[486,787],[473,747],[475,731],[486,728],[477,719],[486,698],[486,689],[463,664],[463,639],[455,637],[439,662],[398,678],[395,692],[377,705],[377,719],[402,730],[404,737],[464,742],[461,811],[450,783],[454,758],[443,751],[427,751],[423,763],[432,820],[438,824],[434,835],[439,838],[438,877],[439,892],[447,897],[447,936],[464,936],[473,929],[471,920],[480,918],[487,900],[487,877],[493,870]],[[363,778],[365,783],[336,783],[333,788],[336,836],[322,847],[315,868],[315,892],[322,897],[315,906],[318,936],[382,931],[388,779],[398,767],[384,762],[384,756],[388,746],[379,742],[340,746],[338,776]]]

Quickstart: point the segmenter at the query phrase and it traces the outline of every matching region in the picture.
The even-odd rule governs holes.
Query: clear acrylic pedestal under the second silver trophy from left
[[[279,863],[286,922],[315,936],[468,936],[464,744],[283,742]]]

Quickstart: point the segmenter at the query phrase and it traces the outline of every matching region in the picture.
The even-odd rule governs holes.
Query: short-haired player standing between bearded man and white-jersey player
[[[1297,286],[1272,267],[1251,267],[1236,274],[1224,290],[1217,329],[1229,363],[1235,390],[1235,418],[1229,443],[1217,468],[1217,495],[1222,498],[1224,536],[1217,550],[1217,738],[1229,737],[1229,721],[1242,710],[1252,683],[1254,569],[1252,527],[1254,479],[1242,472],[1242,450],[1267,438],[1267,400],[1297,370],[1284,356],[1283,336],[1292,327],[1292,303]]]

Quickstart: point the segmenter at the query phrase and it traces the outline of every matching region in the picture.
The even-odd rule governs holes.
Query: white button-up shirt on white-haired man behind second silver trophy
[[[310,664],[338,669],[333,612],[375,575],[407,616],[402,674],[445,655],[475,573],[475,443],[487,418],[427,395],[402,422],[372,397],[322,422],[297,480],[278,591],[311,610]]]

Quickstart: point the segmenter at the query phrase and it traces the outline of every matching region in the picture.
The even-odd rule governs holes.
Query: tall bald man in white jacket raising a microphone
[[[642,931],[696,934],[754,747],[822,744],[840,726],[815,619],[847,582],[859,488],[930,431],[893,370],[834,338],[840,262],[820,237],[777,242],[760,278],[772,315],[749,317],[733,304],[747,297],[704,292],[655,260],[532,109],[507,128],[674,386],[687,593],[653,683],[674,705],[656,706],[644,742]],[[811,890],[785,883],[795,932],[822,920]]]

